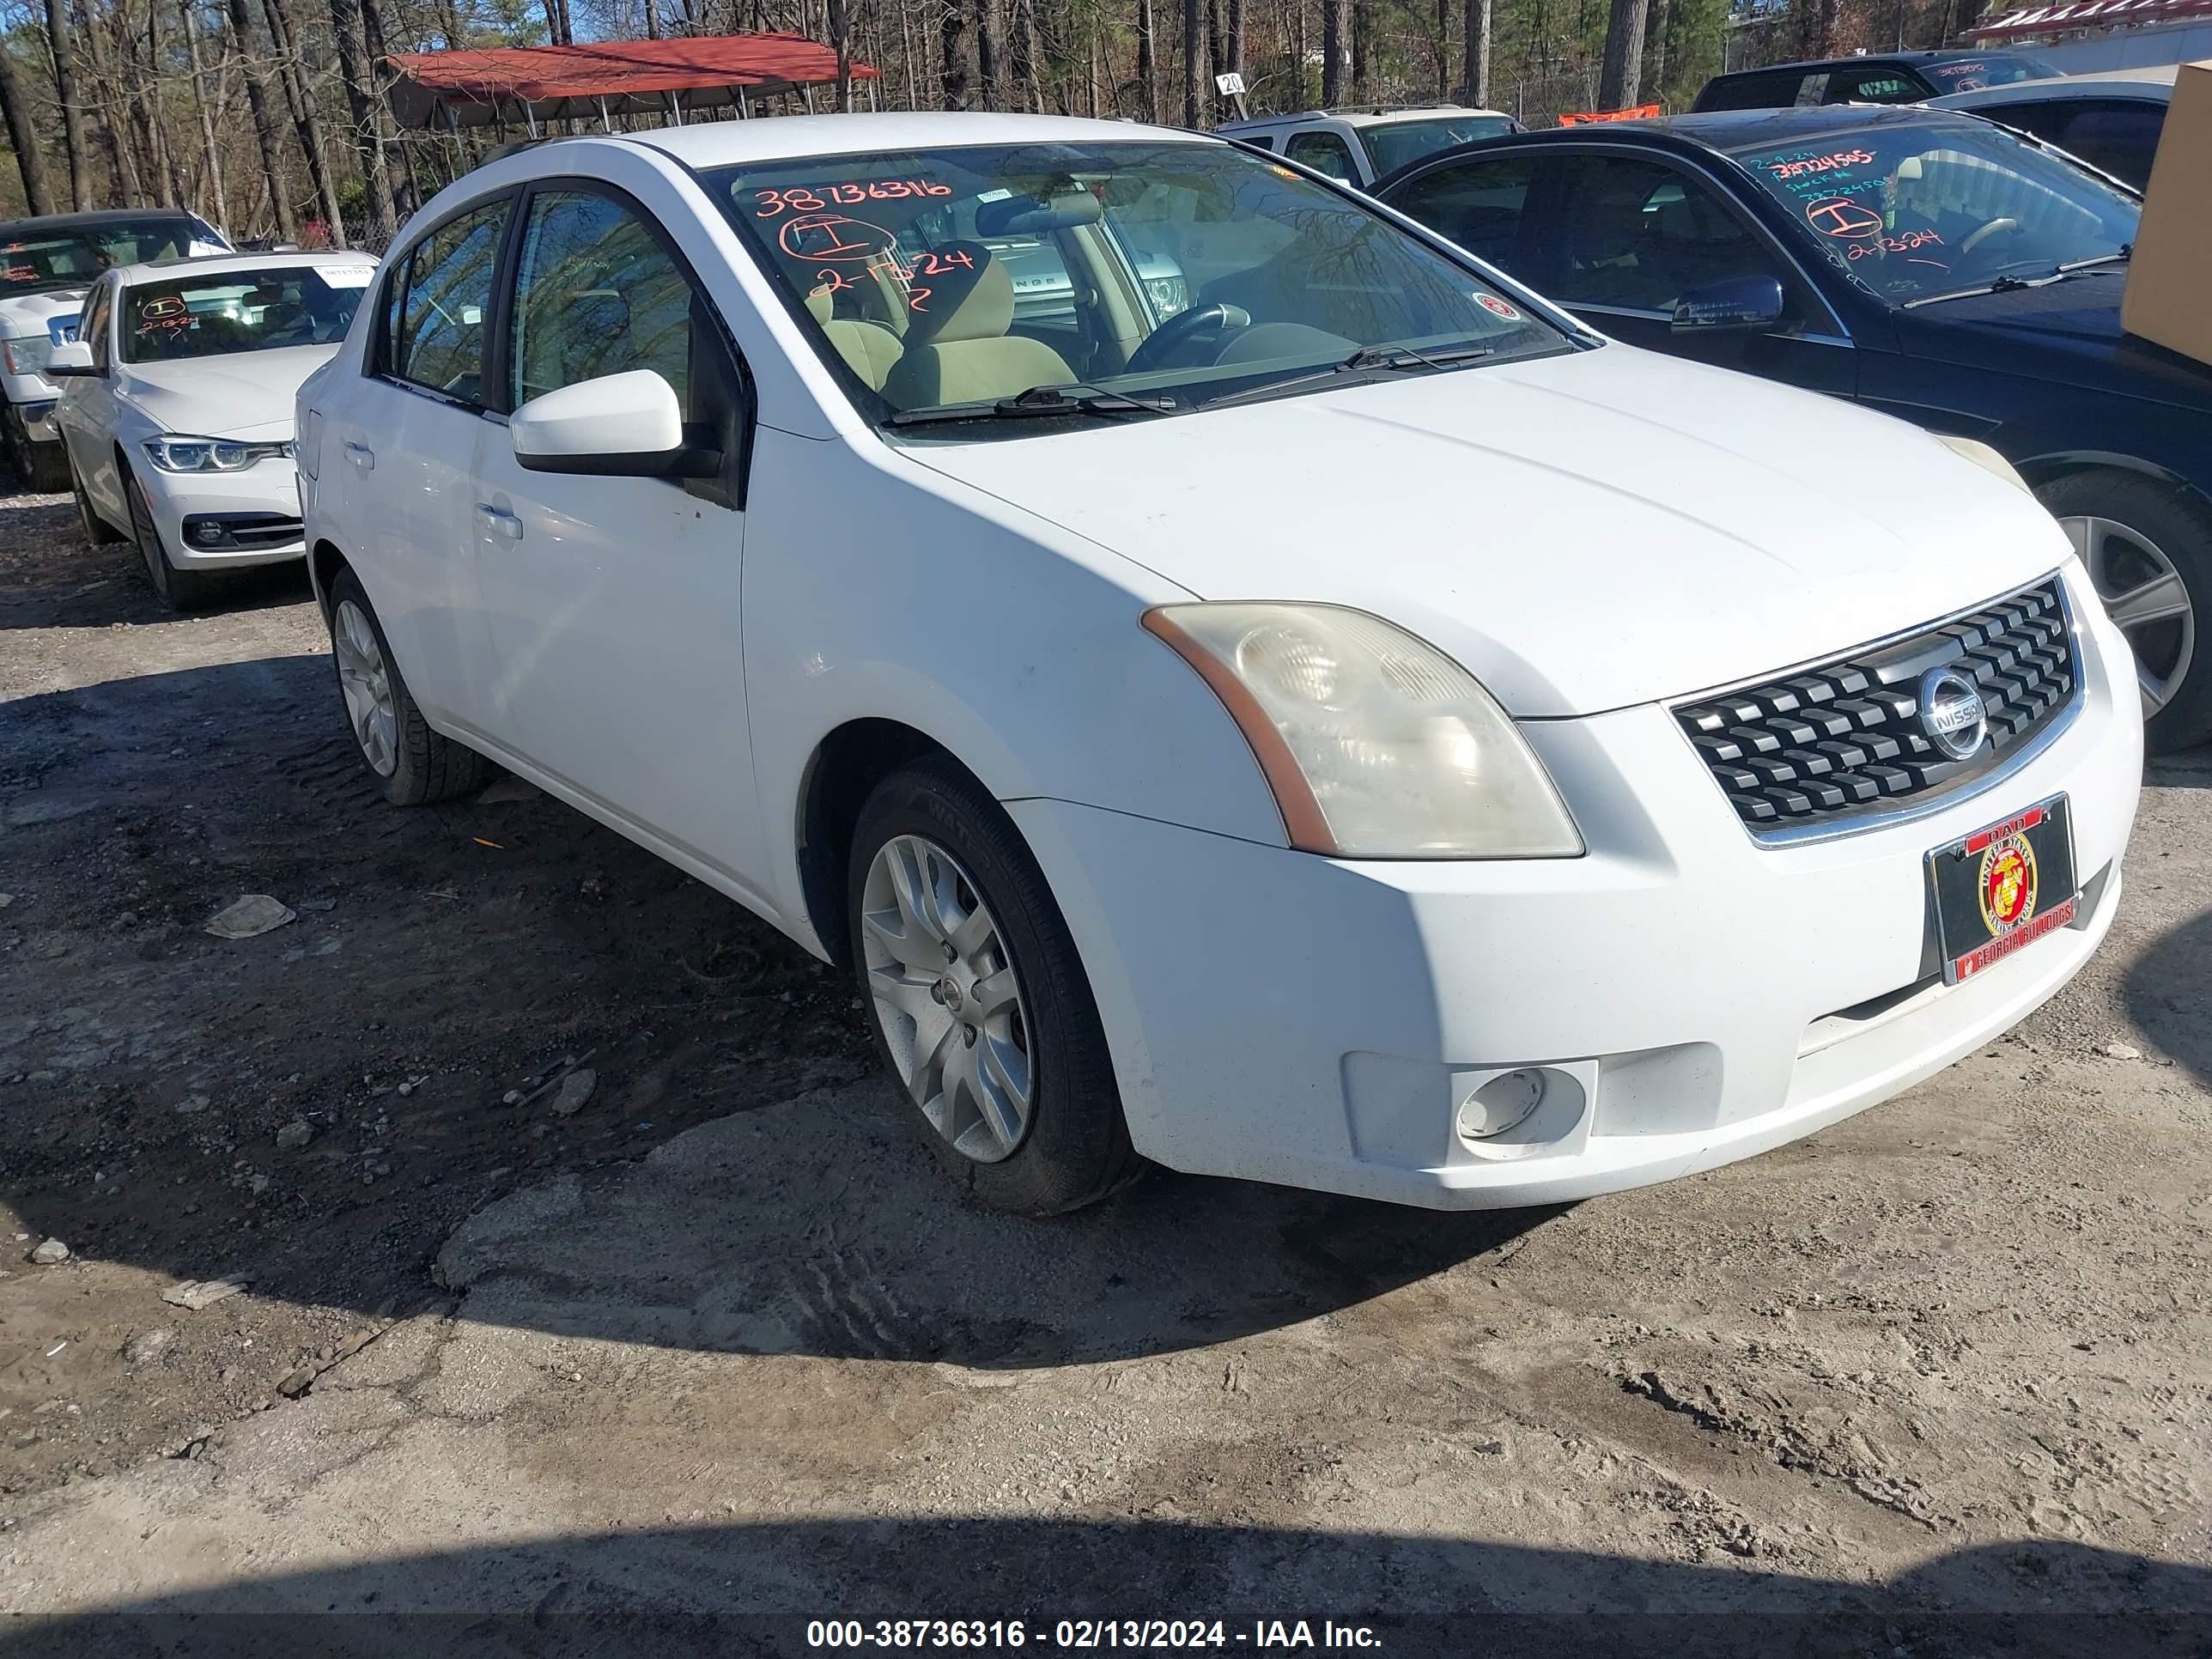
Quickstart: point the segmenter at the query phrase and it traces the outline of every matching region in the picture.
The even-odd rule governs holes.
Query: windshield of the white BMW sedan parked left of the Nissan
[[[139,283],[122,296],[124,363],[181,363],[345,338],[374,265],[274,265]]]

